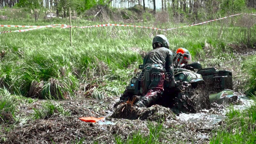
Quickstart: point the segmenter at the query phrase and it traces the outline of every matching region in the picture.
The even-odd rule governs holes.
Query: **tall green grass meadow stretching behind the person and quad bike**
[[[248,17],[238,16],[235,20],[252,22]],[[72,48],[69,46],[68,29],[43,28],[1,34],[0,48],[5,55],[0,62],[0,86],[6,87],[12,94],[46,99],[72,99],[84,84],[97,86],[93,98],[120,95],[135,74],[133,69],[142,63],[140,54],[152,49],[151,42],[157,34],[168,37],[173,52],[178,47],[185,47],[193,61],[212,57],[213,65],[232,60],[232,49],[228,44],[245,43],[252,46],[256,43],[255,24],[250,27],[243,23],[230,26],[230,21],[220,20],[167,32],[131,27],[73,28]],[[37,23],[27,20],[0,23],[52,24],[45,20]],[[78,26],[94,24],[99,23],[74,21],[74,25]],[[186,25],[160,21],[133,24],[158,28]],[[14,29],[17,28],[1,28],[1,31]]]

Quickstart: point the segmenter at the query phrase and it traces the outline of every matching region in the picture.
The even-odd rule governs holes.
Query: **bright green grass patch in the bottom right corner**
[[[244,111],[231,109],[227,116],[224,126],[213,134],[211,144],[255,143],[256,105]]]

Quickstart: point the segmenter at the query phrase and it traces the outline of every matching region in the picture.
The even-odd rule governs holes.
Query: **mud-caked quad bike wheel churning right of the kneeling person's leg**
[[[172,111],[179,113],[196,113],[202,109],[210,108],[209,95],[203,87],[191,88],[189,86],[185,92],[178,92],[173,99],[174,105]]]

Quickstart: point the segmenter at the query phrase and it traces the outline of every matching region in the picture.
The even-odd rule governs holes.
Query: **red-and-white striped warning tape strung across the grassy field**
[[[181,27],[177,27],[177,28],[185,28],[185,27],[191,27],[191,26],[201,25],[201,24],[205,24],[205,23],[208,23],[208,22],[212,22],[212,21],[216,21],[216,20],[222,20],[222,19],[226,19],[226,18],[228,18],[228,17],[233,17],[233,16],[237,16],[237,15],[241,15],[241,14],[248,14],[248,15],[255,15],[255,16],[256,16],[256,14],[252,14],[252,13],[239,13],[239,14],[234,14],[234,15],[226,16],[226,17],[223,17],[223,18],[215,19],[215,20],[209,20],[209,21],[205,21],[205,22],[201,22],[201,23],[197,23],[197,24],[192,24],[192,25],[187,25],[187,26],[181,26]],[[177,28],[161,29],[161,28],[154,28],[154,27],[144,27],[144,26],[125,25],[125,24],[101,24],[101,25],[83,26],[83,27],[68,26],[68,25],[63,25],[63,24],[54,24],[54,25],[48,25],[48,26],[0,25],[0,27],[16,27],[16,28],[21,27],[21,28],[29,28],[29,29],[23,29],[23,30],[15,30],[15,31],[2,31],[2,32],[0,32],[0,34],[3,34],[3,33],[10,33],[10,32],[24,32],[24,31],[30,31],[30,30],[40,29],[40,28],[70,28],[70,27],[71,27],[71,28],[93,28],[93,27],[107,27],[107,26],[149,28],[149,29],[156,29],[156,30],[163,30],[163,31],[172,30],[172,29],[177,29]]]

